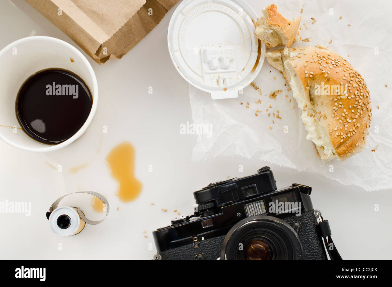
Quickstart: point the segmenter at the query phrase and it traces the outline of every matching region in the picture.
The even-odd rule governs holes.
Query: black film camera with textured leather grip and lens
[[[154,260],[325,260],[312,188],[276,188],[269,167],[194,192],[194,215],[153,232]]]

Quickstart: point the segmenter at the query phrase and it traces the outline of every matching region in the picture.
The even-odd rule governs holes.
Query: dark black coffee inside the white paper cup
[[[46,69],[28,78],[16,97],[16,116],[33,139],[59,144],[72,137],[90,114],[93,97],[86,83],[63,69]]]

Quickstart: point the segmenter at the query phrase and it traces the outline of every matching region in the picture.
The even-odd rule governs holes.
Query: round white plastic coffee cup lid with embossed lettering
[[[184,0],[169,23],[174,66],[213,99],[238,97],[260,72],[265,45],[256,34],[257,15],[243,0]]]

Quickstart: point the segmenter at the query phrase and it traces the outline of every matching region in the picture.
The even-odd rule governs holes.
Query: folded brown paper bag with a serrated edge
[[[25,0],[99,64],[120,59],[178,0]]]

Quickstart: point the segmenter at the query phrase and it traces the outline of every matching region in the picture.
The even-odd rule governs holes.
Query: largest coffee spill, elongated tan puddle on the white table
[[[115,146],[106,157],[111,174],[118,183],[116,195],[123,202],[138,198],[142,192],[142,183],[134,177],[135,148],[131,143]]]

